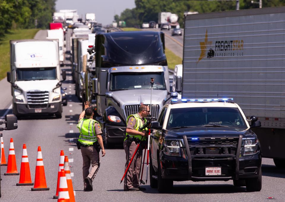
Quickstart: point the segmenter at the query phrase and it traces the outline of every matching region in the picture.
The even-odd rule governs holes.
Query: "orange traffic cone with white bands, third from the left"
[[[28,152],[27,152],[26,144],[23,144],[20,180],[19,180],[19,183],[17,183],[16,185],[17,186],[34,185],[34,183],[31,180],[30,164],[28,160]]]

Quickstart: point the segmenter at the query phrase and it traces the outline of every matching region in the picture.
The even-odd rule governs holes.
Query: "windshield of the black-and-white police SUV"
[[[238,108],[193,107],[170,110],[167,129],[191,126],[247,128]]]

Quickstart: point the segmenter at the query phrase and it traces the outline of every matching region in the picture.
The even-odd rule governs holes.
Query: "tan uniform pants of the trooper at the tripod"
[[[124,141],[124,149],[126,152],[126,165],[125,170],[127,169],[129,162],[134,154],[134,151],[137,148],[137,144],[135,141],[132,142],[130,147],[126,144],[128,141]],[[137,153],[134,155],[134,159],[131,163],[131,166],[126,173],[125,179],[124,179],[124,190],[130,189],[132,187],[139,187],[139,175],[140,175],[140,163],[142,161],[143,156],[143,147],[139,146],[137,149]]]

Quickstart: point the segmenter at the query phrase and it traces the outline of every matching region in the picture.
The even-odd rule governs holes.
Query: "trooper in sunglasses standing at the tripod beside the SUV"
[[[129,162],[134,155],[137,144],[140,143],[140,146],[137,153],[134,155],[134,159],[129,167],[128,172],[126,173],[124,179],[124,191],[145,190],[145,188],[140,187],[139,185],[140,165],[143,156],[143,144],[140,141],[145,140],[145,136],[148,131],[140,131],[140,127],[147,122],[145,117],[148,117],[149,113],[149,106],[142,104],[139,112],[137,114],[129,115],[127,119],[126,138],[124,140],[124,149],[126,152],[125,170],[127,169]]]

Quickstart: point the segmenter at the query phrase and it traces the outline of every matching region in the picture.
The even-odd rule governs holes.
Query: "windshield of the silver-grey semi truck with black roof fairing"
[[[157,73],[111,73],[110,91],[131,90],[131,89],[150,89],[150,78],[154,78],[153,89],[166,90],[163,72]]]

